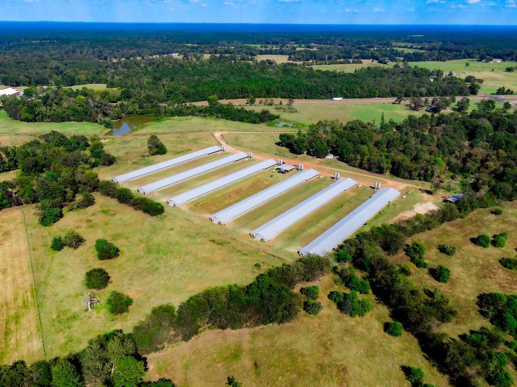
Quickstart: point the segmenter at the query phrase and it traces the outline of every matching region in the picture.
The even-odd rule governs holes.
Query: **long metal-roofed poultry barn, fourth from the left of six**
[[[266,188],[255,195],[250,196],[244,200],[241,200],[230,207],[219,211],[217,214],[210,216],[210,219],[214,223],[226,224],[236,217],[250,211],[268,200],[280,195],[281,193],[296,187],[298,184],[306,182],[312,178],[315,178],[319,173],[314,169],[307,169],[305,171],[301,171],[296,173],[294,176],[291,176],[280,183],[277,183],[269,188]]]

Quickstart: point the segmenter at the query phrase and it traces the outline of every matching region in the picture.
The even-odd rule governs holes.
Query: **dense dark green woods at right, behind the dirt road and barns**
[[[329,151],[351,166],[432,183],[432,190],[472,189],[498,199],[517,197],[517,113],[484,101],[469,115],[409,116],[401,123],[337,120],[307,133],[280,135],[294,153]]]

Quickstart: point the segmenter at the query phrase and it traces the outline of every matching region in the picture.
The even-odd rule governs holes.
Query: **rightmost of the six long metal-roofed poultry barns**
[[[324,255],[332,251],[334,247],[360,228],[364,222],[381,211],[384,206],[397,199],[399,195],[400,192],[393,188],[379,189],[370,199],[362,203],[310,244],[302,247],[298,254],[301,256],[306,254]]]

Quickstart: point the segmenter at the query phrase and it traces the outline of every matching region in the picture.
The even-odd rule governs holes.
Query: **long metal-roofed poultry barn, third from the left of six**
[[[220,179],[211,181],[209,183],[203,184],[199,187],[193,188],[189,191],[180,193],[179,195],[173,196],[172,198],[167,199],[167,204],[176,207],[183,204],[188,203],[192,199],[199,198],[200,196],[206,195],[209,192],[218,190],[222,187],[235,183],[241,179],[246,178],[247,176],[252,175],[258,171],[263,171],[265,169],[271,168],[277,165],[275,160],[268,159],[261,161],[260,163],[255,163],[249,167],[238,170],[237,172],[230,173],[229,175],[223,176]]]

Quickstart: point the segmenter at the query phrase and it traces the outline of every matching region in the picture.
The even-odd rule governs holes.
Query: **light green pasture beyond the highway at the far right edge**
[[[469,66],[465,66],[468,63]],[[465,78],[474,75],[484,79],[480,92],[492,94],[501,86],[517,91],[517,73],[508,73],[507,67],[517,66],[517,62],[478,62],[471,59],[448,60],[446,62],[425,61],[409,62],[409,66],[418,66],[430,70],[442,70],[445,73],[452,71],[456,76]],[[493,71],[492,71],[493,70]]]

